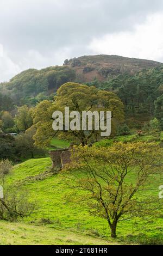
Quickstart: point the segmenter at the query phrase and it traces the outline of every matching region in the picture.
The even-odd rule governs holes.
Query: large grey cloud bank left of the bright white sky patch
[[[160,0],[1,0],[0,43],[21,69],[30,65],[30,50],[42,56],[35,56],[32,67],[61,64],[57,51],[61,57],[90,54],[92,38],[131,31],[162,5]]]

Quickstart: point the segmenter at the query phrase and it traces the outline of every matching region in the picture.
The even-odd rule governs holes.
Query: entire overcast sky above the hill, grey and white
[[[163,62],[162,32],[162,0],[0,0],[0,82],[87,54]]]

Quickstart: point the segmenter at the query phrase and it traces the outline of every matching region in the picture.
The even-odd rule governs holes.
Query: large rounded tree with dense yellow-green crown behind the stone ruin
[[[117,123],[123,121],[123,103],[120,98],[112,92],[98,90],[96,87],[89,87],[84,84],[68,82],[63,84],[57,91],[54,101],[40,102],[33,113],[33,121],[37,127],[34,136],[36,144],[47,145],[54,136],[82,143],[82,145],[97,141],[100,132],[95,131],[63,131],[55,132],[52,129],[52,114],[54,111],[64,113],[65,107],[70,108],[70,112],[78,111],[81,116],[83,111],[111,111],[112,132]],[[65,125],[65,124],[64,124]],[[65,126],[64,126],[65,127]]]

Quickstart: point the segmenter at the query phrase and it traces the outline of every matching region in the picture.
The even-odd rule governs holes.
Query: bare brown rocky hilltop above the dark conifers
[[[124,73],[134,75],[142,69],[156,68],[161,63],[153,60],[100,54],[66,59],[64,65],[76,72],[77,80],[90,82],[95,78],[98,81],[105,81],[108,76],[114,77]]]

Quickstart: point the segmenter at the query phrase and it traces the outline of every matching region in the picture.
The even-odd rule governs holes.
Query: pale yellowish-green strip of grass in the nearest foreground
[[[0,245],[115,245],[98,237],[54,227],[0,222]]]

